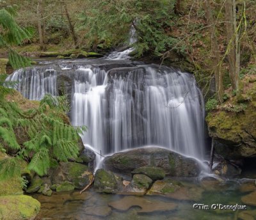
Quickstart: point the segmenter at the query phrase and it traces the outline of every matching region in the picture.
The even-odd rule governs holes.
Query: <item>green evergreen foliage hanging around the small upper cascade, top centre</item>
[[[175,20],[175,1],[109,1],[93,2],[90,12],[79,14],[79,29],[86,31],[86,39],[93,43],[106,43],[106,47],[129,41],[131,26],[136,29],[137,41],[133,43],[138,56],[143,52],[160,55],[175,47],[177,38],[169,35]],[[110,40],[110,43],[109,43]],[[180,52],[185,48],[180,47]]]

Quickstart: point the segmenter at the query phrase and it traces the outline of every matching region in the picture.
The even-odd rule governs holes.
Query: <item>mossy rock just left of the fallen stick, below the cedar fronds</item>
[[[58,168],[52,171],[52,184],[71,182],[76,189],[83,189],[90,183],[93,174],[88,171],[88,166],[76,162],[60,162]]]

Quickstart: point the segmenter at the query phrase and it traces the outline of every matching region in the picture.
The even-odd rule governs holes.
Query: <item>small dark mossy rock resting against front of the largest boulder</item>
[[[141,168],[134,169],[132,174],[144,174],[152,180],[162,180],[165,177],[165,172],[162,168],[156,166],[143,166]]]

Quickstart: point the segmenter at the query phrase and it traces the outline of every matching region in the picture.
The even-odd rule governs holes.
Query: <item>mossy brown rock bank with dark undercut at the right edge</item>
[[[225,159],[256,157],[256,75],[243,84],[241,98],[228,98],[206,117],[215,150]]]

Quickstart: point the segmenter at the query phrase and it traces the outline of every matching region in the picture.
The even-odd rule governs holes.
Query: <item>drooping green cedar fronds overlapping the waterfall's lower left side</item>
[[[1,100],[1,149],[8,152],[15,150],[15,157],[4,160],[0,165],[1,175],[12,174],[10,169],[16,170],[16,159],[28,161],[28,169],[40,176],[47,174],[48,169],[59,161],[76,159],[79,134],[84,132],[85,127],[74,128],[65,123],[65,103],[65,97],[45,95],[36,109],[22,111],[15,102],[7,102],[4,98]],[[22,137],[26,137],[19,143],[17,130],[22,131]]]

